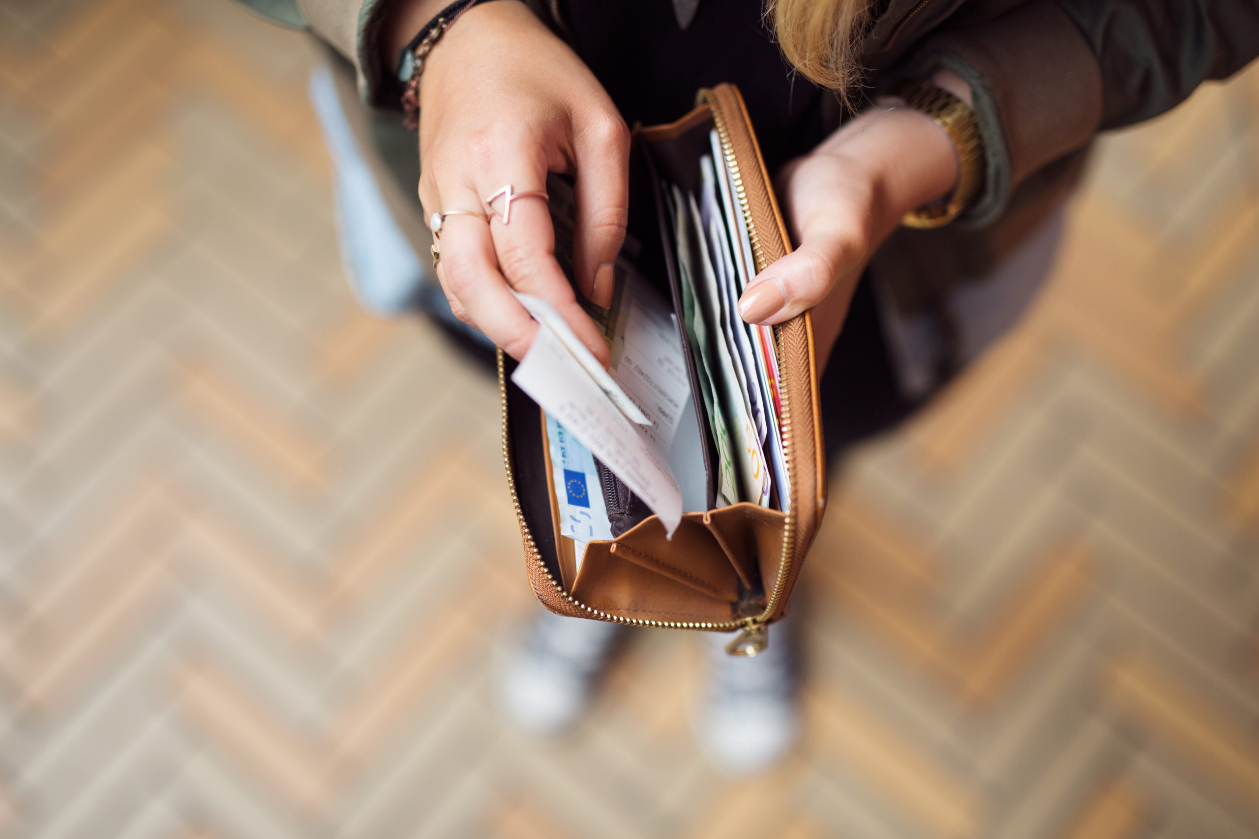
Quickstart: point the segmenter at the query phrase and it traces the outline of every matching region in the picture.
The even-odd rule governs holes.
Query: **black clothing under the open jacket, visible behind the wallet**
[[[562,0],[574,47],[633,126],[677,119],[701,87],[739,87],[773,175],[825,138],[822,92],[793,75],[762,18],[760,0],[703,0],[680,29],[671,0]],[[821,382],[827,455],[904,418],[874,296],[862,282]]]

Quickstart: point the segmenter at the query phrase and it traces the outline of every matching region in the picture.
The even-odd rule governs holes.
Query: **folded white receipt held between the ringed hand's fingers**
[[[677,340],[676,332],[674,340]],[[637,341],[631,346],[637,346]],[[680,345],[677,351],[680,355]],[[627,347],[621,365],[636,355]],[[646,372],[645,365],[636,367]],[[679,369],[682,369],[680,364]],[[685,397],[675,413],[672,428],[667,429],[670,439],[663,440],[665,421],[651,428],[626,419],[564,343],[545,327],[538,330],[538,337],[511,374],[511,381],[621,478],[660,517],[666,533],[674,535],[682,520],[682,492],[669,468],[669,443],[677,428],[676,416],[685,408]],[[631,390],[638,389],[631,386]],[[660,420],[665,420],[663,415]]]

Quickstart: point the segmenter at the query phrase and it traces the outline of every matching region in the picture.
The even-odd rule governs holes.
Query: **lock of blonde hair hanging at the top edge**
[[[787,60],[815,84],[852,106],[861,82],[861,39],[870,0],[768,0],[778,45]]]

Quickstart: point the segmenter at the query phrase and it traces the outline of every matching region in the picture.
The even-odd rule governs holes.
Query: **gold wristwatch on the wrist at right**
[[[987,160],[983,155],[983,135],[974,112],[948,91],[929,79],[917,78],[898,82],[884,96],[896,97],[914,111],[922,111],[948,132],[957,152],[957,186],[947,199],[906,213],[900,223],[906,228],[942,228],[962,214],[983,189]]]

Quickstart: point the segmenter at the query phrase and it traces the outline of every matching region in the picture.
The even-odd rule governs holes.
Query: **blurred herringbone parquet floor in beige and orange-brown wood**
[[[685,634],[499,722],[496,387],[350,297],[312,55],[0,3],[0,834],[1259,836],[1259,69],[1105,138],[1026,322],[835,475],[806,741],[735,784]]]

